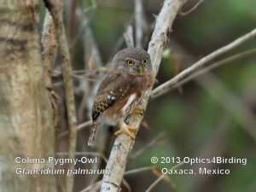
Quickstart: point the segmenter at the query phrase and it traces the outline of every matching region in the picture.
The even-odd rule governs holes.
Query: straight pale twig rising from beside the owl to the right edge
[[[232,43],[230,43],[230,44],[228,44],[228,45],[226,45],[226,46],[224,46],[220,49],[217,49],[216,51],[212,52],[210,55],[207,55],[207,56],[203,57],[200,61],[195,62],[195,64],[192,65],[191,67],[183,70],[183,72],[181,72],[181,73],[178,73],[177,76],[175,76],[171,80],[167,81],[165,84],[161,84],[160,86],[155,88],[151,92],[151,97],[155,98],[157,96],[160,96],[166,90],[172,88],[178,82],[182,81],[183,79],[186,79],[187,77],[189,77],[189,75],[191,75],[192,73],[195,73],[196,70],[205,66],[208,61],[212,61],[213,59],[215,59],[219,55],[223,55],[227,51],[236,48],[240,44],[245,43],[247,40],[249,40],[249,39],[251,39],[255,36],[256,36],[256,29],[253,29],[252,32],[248,32],[246,35],[242,36],[241,38],[237,38]]]

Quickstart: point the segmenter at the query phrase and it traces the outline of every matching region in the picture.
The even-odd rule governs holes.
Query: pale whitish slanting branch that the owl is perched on
[[[171,31],[172,22],[175,19],[178,11],[183,7],[183,4],[187,0],[166,0],[160,15],[157,17],[154,32],[151,41],[148,45],[148,53],[151,57],[153,65],[154,77],[158,72],[162,52],[166,44],[167,37]],[[145,109],[148,104],[149,94],[152,90],[150,87],[143,96],[141,103]],[[126,121],[128,125],[132,127],[139,127],[143,119],[140,115],[131,115]],[[128,154],[132,148],[133,141],[131,137],[127,137],[125,134],[119,135],[113,143],[113,148],[108,159],[107,170],[110,170],[109,174],[105,174],[102,179],[101,191],[117,192],[120,189],[120,183],[125,173],[125,166]]]

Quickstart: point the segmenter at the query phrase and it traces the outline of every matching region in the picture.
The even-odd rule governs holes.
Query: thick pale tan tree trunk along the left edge
[[[38,1],[3,0],[0,3],[0,191],[55,191],[54,174],[24,174],[27,170],[49,167],[47,158],[54,155],[54,128],[41,49]],[[19,163],[20,158],[24,163]],[[45,158],[45,164],[32,162],[35,158]]]

